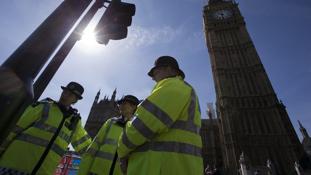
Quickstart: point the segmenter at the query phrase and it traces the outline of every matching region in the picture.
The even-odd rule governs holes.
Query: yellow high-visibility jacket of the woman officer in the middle
[[[77,175],[109,174],[116,154],[118,139],[125,125],[123,117],[110,118],[101,127],[83,155]],[[113,174],[122,175],[119,158],[115,157]]]

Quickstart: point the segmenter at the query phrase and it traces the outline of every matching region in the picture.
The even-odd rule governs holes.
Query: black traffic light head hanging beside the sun
[[[99,44],[107,45],[109,40],[126,38],[127,27],[132,24],[134,15],[134,4],[112,0],[93,31],[95,40]]]

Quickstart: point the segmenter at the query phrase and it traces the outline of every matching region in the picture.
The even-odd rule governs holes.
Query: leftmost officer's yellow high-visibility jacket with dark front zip
[[[69,113],[71,107],[68,112],[65,108],[62,108],[64,115],[55,102],[37,102],[26,109],[0,146],[0,174],[10,171],[31,173],[37,163],[41,166],[36,174],[53,174],[69,143],[81,155],[86,151],[91,138],[80,118],[76,118],[80,116]],[[75,126],[71,125],[74,120]],[[54,142],[51,141],[53,136]]]

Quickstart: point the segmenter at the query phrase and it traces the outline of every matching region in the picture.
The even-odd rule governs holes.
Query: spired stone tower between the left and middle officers
[[[92,140],[97,135],[98,131],[102,127],[102,125],[112,117],[120,116],[119,107],[117,104],[117,100],[115,100],[116,89],[113,91],[111,99],[108,99],[108,96],[104,97],[104,99],[99,100],[100,90],[97,92],[95,96],[95,100],[91,107],[91,111],[89,116],[87,117],[85,123],[85,130],[91,136]]]

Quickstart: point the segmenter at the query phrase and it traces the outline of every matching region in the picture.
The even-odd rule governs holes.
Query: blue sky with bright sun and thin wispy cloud
[[[0,64],[62,2],[0,1]],[[94,2],[95,0],[91,5]],[[205,118],[207,102],[212,102],[216,108],[214,81],[202,20],[207,0],[122,2],[136,6],[127,38],[111,40],[105,46],[84,36],[75,44],[40,99],[50,97],[58,100],[62,92],[60,86],[66,86],[71,81],[80,83],[85,89],[83,99],[73,107],[79,110],[84,126],[99,89],[100,99],[105,95],[110,99],[115,88],[116,99],[128,94],[144,99],[155,83],[147,76],[147,72],[152,68],[154,60],[168,55],[178,60],[180,68],[186,74],[185,81],[196,90],[202,118]],[[274,91],[286,106],[301,141],[297,120],[311,135],[311,1],[235,2],[239,3],[246,28]],[[94,16],[84,31],[86,34],[92,31],[104,10],[100,9]]]

